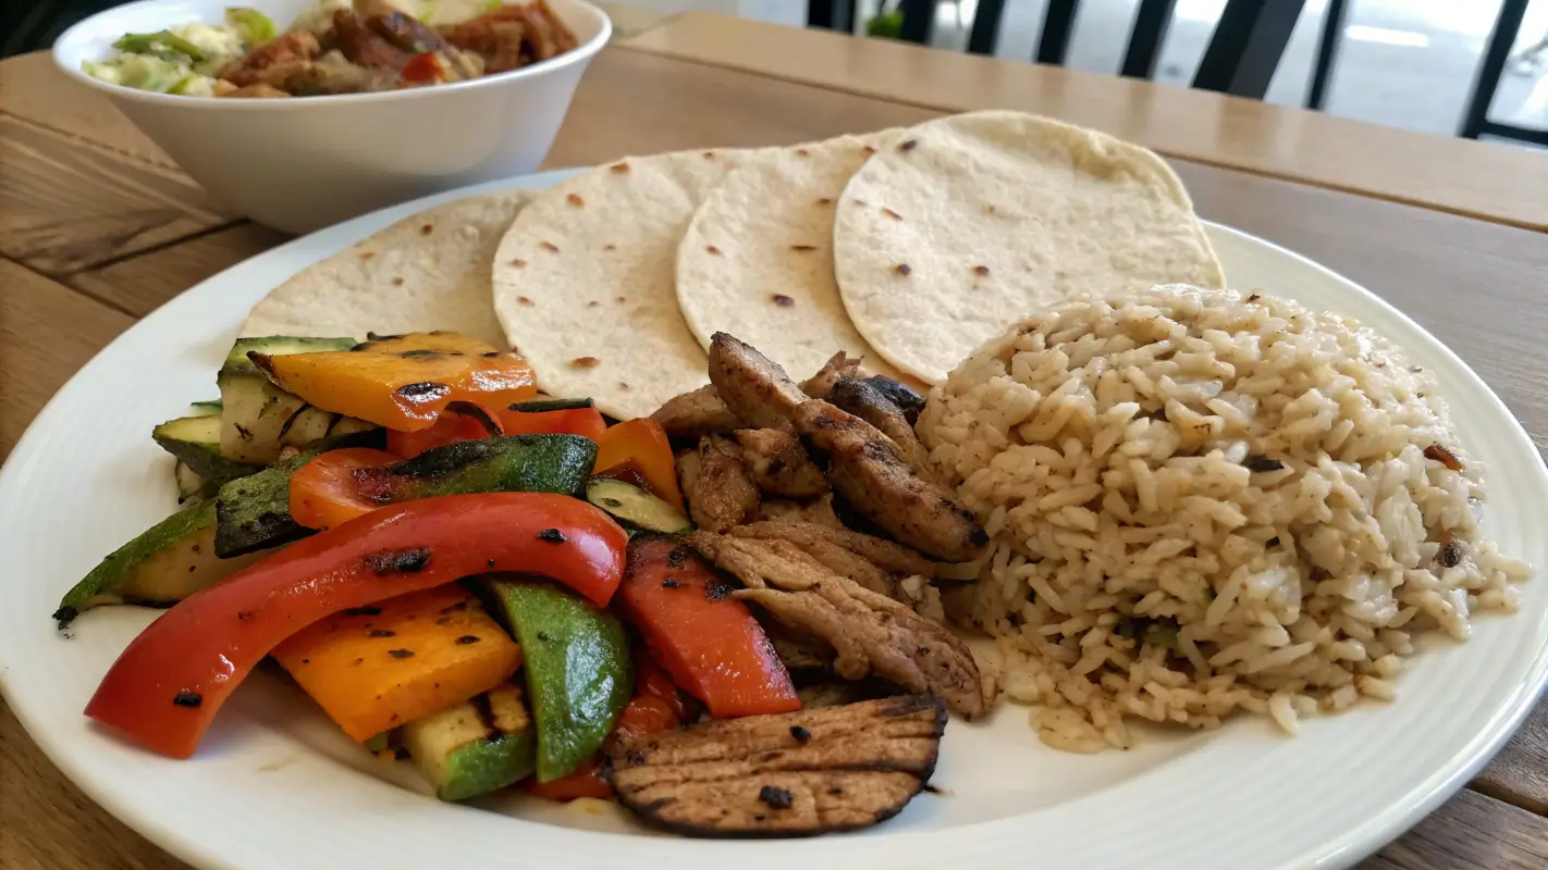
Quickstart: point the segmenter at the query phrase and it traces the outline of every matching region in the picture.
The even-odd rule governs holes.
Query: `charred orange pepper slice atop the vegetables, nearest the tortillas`
[[[398,431],[430,428],[452,402],[505,408],[537,394],[526,360],[455,332],[392,335],[350,351],[248,357],[280,389],[310,405]]]

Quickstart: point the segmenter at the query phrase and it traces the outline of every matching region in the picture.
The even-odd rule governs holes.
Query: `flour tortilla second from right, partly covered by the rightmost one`
[[[676,301],[703,348],[731,332],[786,371],[837,351],[899,372],[861,337],[833,278],[833,215],[850,176],[901,130],[769,148],[726,175],[678,246]]]

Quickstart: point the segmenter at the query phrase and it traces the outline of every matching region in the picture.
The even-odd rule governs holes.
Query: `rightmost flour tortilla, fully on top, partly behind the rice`
[[[1224,286],[1161,158],[1009,111],[921,124],[865,161],[839,199],[833,246],[856,329],[929,383],[1070,295]]]

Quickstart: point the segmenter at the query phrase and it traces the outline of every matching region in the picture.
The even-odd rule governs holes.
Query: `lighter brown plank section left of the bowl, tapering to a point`
[[[0,114],[0,255],[74,272],[229,223],[175,168]]]

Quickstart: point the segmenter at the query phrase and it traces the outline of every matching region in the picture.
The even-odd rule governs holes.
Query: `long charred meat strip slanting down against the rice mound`
[[[827,454],[834,491],[892,538],[947,562],[983,555],[989,535],[972,513],[910,468],[876,427],[817,400],[800,405],[793,420]]]

